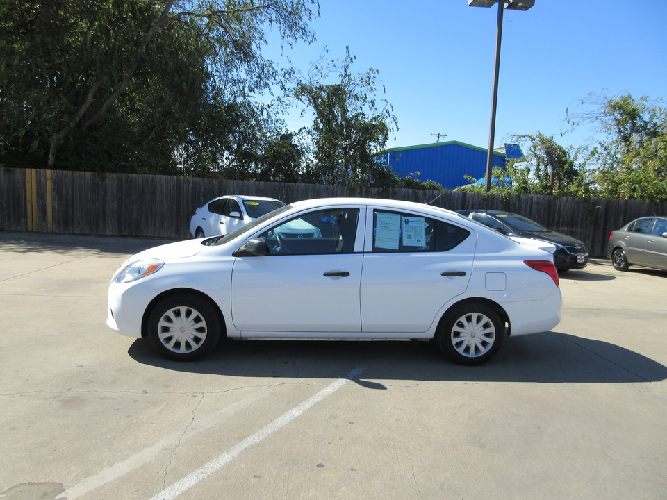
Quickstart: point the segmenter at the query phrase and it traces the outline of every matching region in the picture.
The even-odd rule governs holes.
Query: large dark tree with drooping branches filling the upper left
[[[121,164],[229,147],[224,113],[270,89],[265,30],[313,40],[315,0],[52,0],[0,4],[0,161]],[[235,106],[242,103],[242,106]],[[261,113],[251,113],[255,119]],[[224,125],[201,132],[198,122]],[[109,138],[128,131],[125,147]],[[106,135],[109,132],[110,135]],[[197,144],[199,143],[199,144]],[[148,153],[137,158],[137,151]],[[119,147],[121,146],[121,147]],[[90,155],[87,156],[90,161]],[[83,155],[86,156],[86,155]],[[42,163],[43,162],[43,163]],[[173,160],[169,163],[173,163]]]

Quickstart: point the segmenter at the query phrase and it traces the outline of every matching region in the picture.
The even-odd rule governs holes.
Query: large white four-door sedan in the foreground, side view
[[[475,365],[507,335],[550,330],[560,316],[549,250],[442,208],[333,198],[129,258],[109,285],[107,324],[174,360],[225,336],[434,339]]]

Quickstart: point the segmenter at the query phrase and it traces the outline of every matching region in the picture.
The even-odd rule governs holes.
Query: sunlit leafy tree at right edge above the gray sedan
[[[591,178],[604,197],[667,200],[667,112],[648,97],[589,95],[570,113],[572,126],[592,124]]]

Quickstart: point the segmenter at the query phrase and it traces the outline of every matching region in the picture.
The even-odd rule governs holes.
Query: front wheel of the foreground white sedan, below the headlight
[[[220,314],[210,301],[181,294],[156,303],[148,317],[146,336],[165,358],[191,361],[210,353],[221,331]]]

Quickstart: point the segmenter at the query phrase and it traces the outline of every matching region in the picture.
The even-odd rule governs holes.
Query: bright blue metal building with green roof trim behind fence
[[[502,149],[507,158],[523,156],[516,144],[505,144]],[[486,151],[486,148],[448,141],[387,149],[379,153],[379,159],[401,178],[411,176],[418,181],[435,181],[445,189],[454,189],[470,184],[466,175],[475,179],[485,176]],[[494,167],[505,167],[506,153],[493,151]]]

